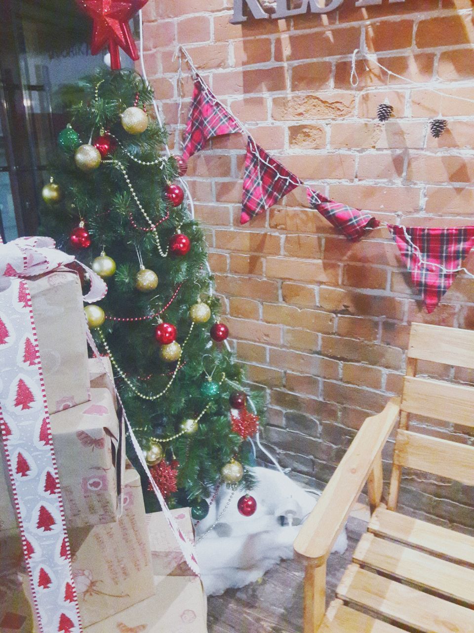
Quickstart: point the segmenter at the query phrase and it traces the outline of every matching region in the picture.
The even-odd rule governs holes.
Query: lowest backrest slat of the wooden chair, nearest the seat
[[[398,430],[393,463],[474,486],[474,446]]]

